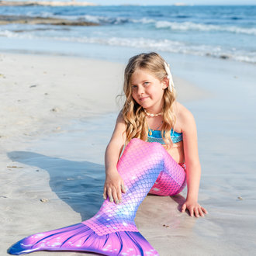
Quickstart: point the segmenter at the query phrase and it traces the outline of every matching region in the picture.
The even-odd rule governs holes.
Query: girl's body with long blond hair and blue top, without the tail
[[[201,167],[195,120],[188,109],[175,101],[173,86],[170,68],[159,54],[140,54],[130,59],[123,86],[126,102],[106,149],[103,197],[106,199],[108,195],[110,202],[119,203],[125,192],[123,180],[116,170],[123,145],[133,137],[158,141],[186,169],[188,194],[182,212],[189,209],[190,216],[204,216],[206,209],[197,202]],[[161,195],[154,189],[150,192]]]

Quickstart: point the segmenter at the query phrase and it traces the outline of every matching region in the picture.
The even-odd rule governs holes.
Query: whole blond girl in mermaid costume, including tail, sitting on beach
[[[200,164],[195,120],[175,101],[168,64],[156,54],[132,57],[125,70],[126,102],[106,148],[105,201],[91,219],[34,234],[9,248],[90,251],[104,255],[158,255],[134,223],[147,193],[175,195],[188,185],[182,212],[204,216],[197,202]],[[121,156],[120,156],[121,155]]]

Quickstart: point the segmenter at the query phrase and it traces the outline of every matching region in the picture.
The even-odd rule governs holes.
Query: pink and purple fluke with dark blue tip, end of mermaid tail
[[[99,236],[83,223],[34,234],[20,240],[9,254],[33,251],[87,251],[104,255],[158,255],[140,232],[119,231]]]

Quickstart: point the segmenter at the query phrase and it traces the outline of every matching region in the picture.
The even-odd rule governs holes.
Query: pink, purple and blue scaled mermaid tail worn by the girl
[[[158,143],[133,139],[117,164],[126,185],[122,202],[106,199],[91,219],[26,237],[9,254],[33,251],[87,251],[104,255],[158,255],[140,234],[134,218],[148,192],[175,195],[185,187],[185,171]],[[153,187],[152,187],[153,186]]]

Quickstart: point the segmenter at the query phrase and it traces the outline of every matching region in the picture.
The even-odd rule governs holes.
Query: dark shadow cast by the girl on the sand
[[[12,151],[8,156],[12,161],[48,171],[50,189],[75,212],[80,213],[81,220],[87,220],[99,211],[105,181],[103,165],[47,157],[27,151]]]

